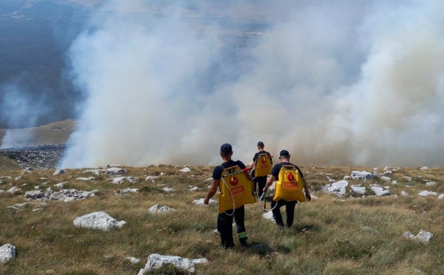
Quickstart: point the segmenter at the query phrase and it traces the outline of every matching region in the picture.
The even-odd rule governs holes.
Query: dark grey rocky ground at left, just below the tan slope
[[[24,148],[1,149],[0,155],[6,156],[15,163],[26,169],[53,169],[65,153],[65,144],[38,145]]]

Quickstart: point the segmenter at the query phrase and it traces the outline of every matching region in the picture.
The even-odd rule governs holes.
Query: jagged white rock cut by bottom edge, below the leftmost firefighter
[[[154,253],[148,256],[148,260],[146,262],[145,267],[143,269],[140,269],[137,275],[143,275],[144,272],[148,272],[151,269],[162,267],[162,265],[165,265],[167,263],[174,265],[180,269],[185,269],[191,274],[194,274],[194,272],[196,272],[196,268],[194,266],[201,263],[207,263],[207,259],[200,258],[200,259],[189,260],[187,258],[182,258],[179,256],[163,256]]]

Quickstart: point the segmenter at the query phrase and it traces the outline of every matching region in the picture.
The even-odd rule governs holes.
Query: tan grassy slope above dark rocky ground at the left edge
[[[65,144],[74,131],[76,120],[66,119],[34,128],[10,129],[15,137],[22,137],[28,146],[41,144]],[[0,129],[0,144],[6,135],[6,129]]]

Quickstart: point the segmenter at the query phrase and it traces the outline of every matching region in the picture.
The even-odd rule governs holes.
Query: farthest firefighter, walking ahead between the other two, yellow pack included
[[[273,166],[271,155],[267,151],[264,151],[264,147],[265,147],[264,142],[257,142],[258,152],[255,153],[255,156],[253,157],[253,163],[251,164],[251,167],[254,167],[253,173],[255,173],[253,174],[253,191],[256,192],[256,186],[257,186],[257,192],[259,197],[262,196],[263,193],[262,190],[264,189],[266,184],[266,176],[267,174],[269,174],[269,172],[271,172],[271,167]],[[259,169],[261,168],[262,169],[265,168],[266,170],[268,170],[268,172],[259,173]]]

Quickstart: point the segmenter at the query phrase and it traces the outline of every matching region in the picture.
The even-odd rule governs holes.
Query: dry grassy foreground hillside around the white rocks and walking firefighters
[[[53,185],[61,182],[67,182],[67,189],[100,191],[83,201],[49,201],[37,212],[31,204],[23,210],[7,208],[26,200],[0,194],[0,245],[11,243],[17,247],[17,258],[0,265],[0,274],[137,274],[151,253],[207,258],[207,264],[196,265],[197,274],[441,274],[444,270],[444,200],[418,197],[422,190],[444,193],[443,169],[400,169],[394,174],[396,185],[380,180],[350,181],[350,185],[366,187],[391,185],[391,193],[398,197],[339,198],[320,191],[328,183],[325,174],[339,180],[356,167],[302,167],[318,199],[298,203],[293,227],[280,231],[262,217],[264,210],[257,204],[248,205],[246,230],[251,245],[241,249],[235,240],[236,247],[225,251],[214,233],[217,207],[191,203],[207,194],[204,180],[211,176],[212,167],[190,167],[190,173],[178,172],[181,168],[127,167],[126,176],[136,181],[120,185],[110,183],[110,176],[105,174],[96,176],[77,169],[59,176],[52,176],[50,170],[0,170],[0,177],[11,177],[0,179],[0,189],[17,186],[22,188],[21,194],[34,190],[36,185],[56,190]],[[165,174],[145,181],[146,175],[160,173]],[[20,180],[14,180],[20,175]],[[80,176],[94,176],[96,180],[76,180]],[[438,184],[426,186],[426,179]],[[201,189],[190,191],[189,186]],[[164,187],[176,192],[164,192]],[[114,194],[125,188],[137,188],[139,192]],[[399,196],[402,190],[410,196]],[[155,204],[176,211],[148,214],[148,208]],[[127,224],[109,233],[73,225],[76,217],[99,210]],[[416,235],[421,229],[434,234],[429,244],[402,237],[405,231]],[[142,261],[130,265],[127,256]],[[186,274],[171,267],[163,270],[152,274]]]

